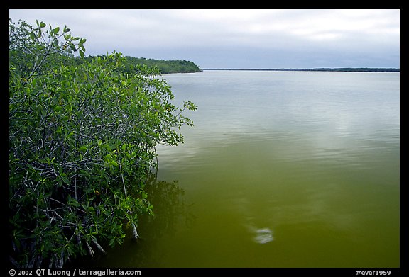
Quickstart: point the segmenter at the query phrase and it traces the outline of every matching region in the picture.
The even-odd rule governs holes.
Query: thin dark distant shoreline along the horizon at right
[[[307,71],[307,72],[400,72],[399,68],[275,68],[275,69],[235,69],[235,68],[204,68],[205,70],[248,70],[248,71]]]

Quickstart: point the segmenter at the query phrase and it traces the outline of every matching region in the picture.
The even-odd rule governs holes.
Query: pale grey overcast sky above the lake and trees
[[[65,25],[86,55],[190,60],[203,68],[400,67],[399,10],[9,10]]]

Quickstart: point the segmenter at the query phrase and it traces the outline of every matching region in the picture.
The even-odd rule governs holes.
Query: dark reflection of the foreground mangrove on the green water
[[[95,259],[81,258],[74,261],[75,267],[119,268],[160,265],[160,256],[165,254],[165,249],[159,245],[160,240],[172,237],[179,225],[184,227],[192,225],[195,216],[190,213],[189,205],[184,201],[184,191],[179,187],[178,181],[158,181],[156,174],[151,173],[144,189],[154,207],[155,215],[153,217],[141,215],[138,222],[138,240],[132,238],[132,231],[129,228],[122,246],[111,249],[102,244],[107,250],[107,255],[99,253]]]

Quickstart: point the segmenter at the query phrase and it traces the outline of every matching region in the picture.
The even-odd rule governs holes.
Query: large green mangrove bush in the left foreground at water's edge
[[[84,57],[70,29],[9,24],[9,234],[16,266],[62,266],[121,244],[138,215],[155,146],[183,142],[182,115],[158,71],[113,52]],[[128,72],[128,73],[127,73]]]

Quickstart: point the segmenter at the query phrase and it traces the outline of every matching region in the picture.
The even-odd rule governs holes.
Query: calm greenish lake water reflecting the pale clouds
[[[400,266],[399,73],[163,78],[195,127],[157,148],[156,216],[99,266]]]

